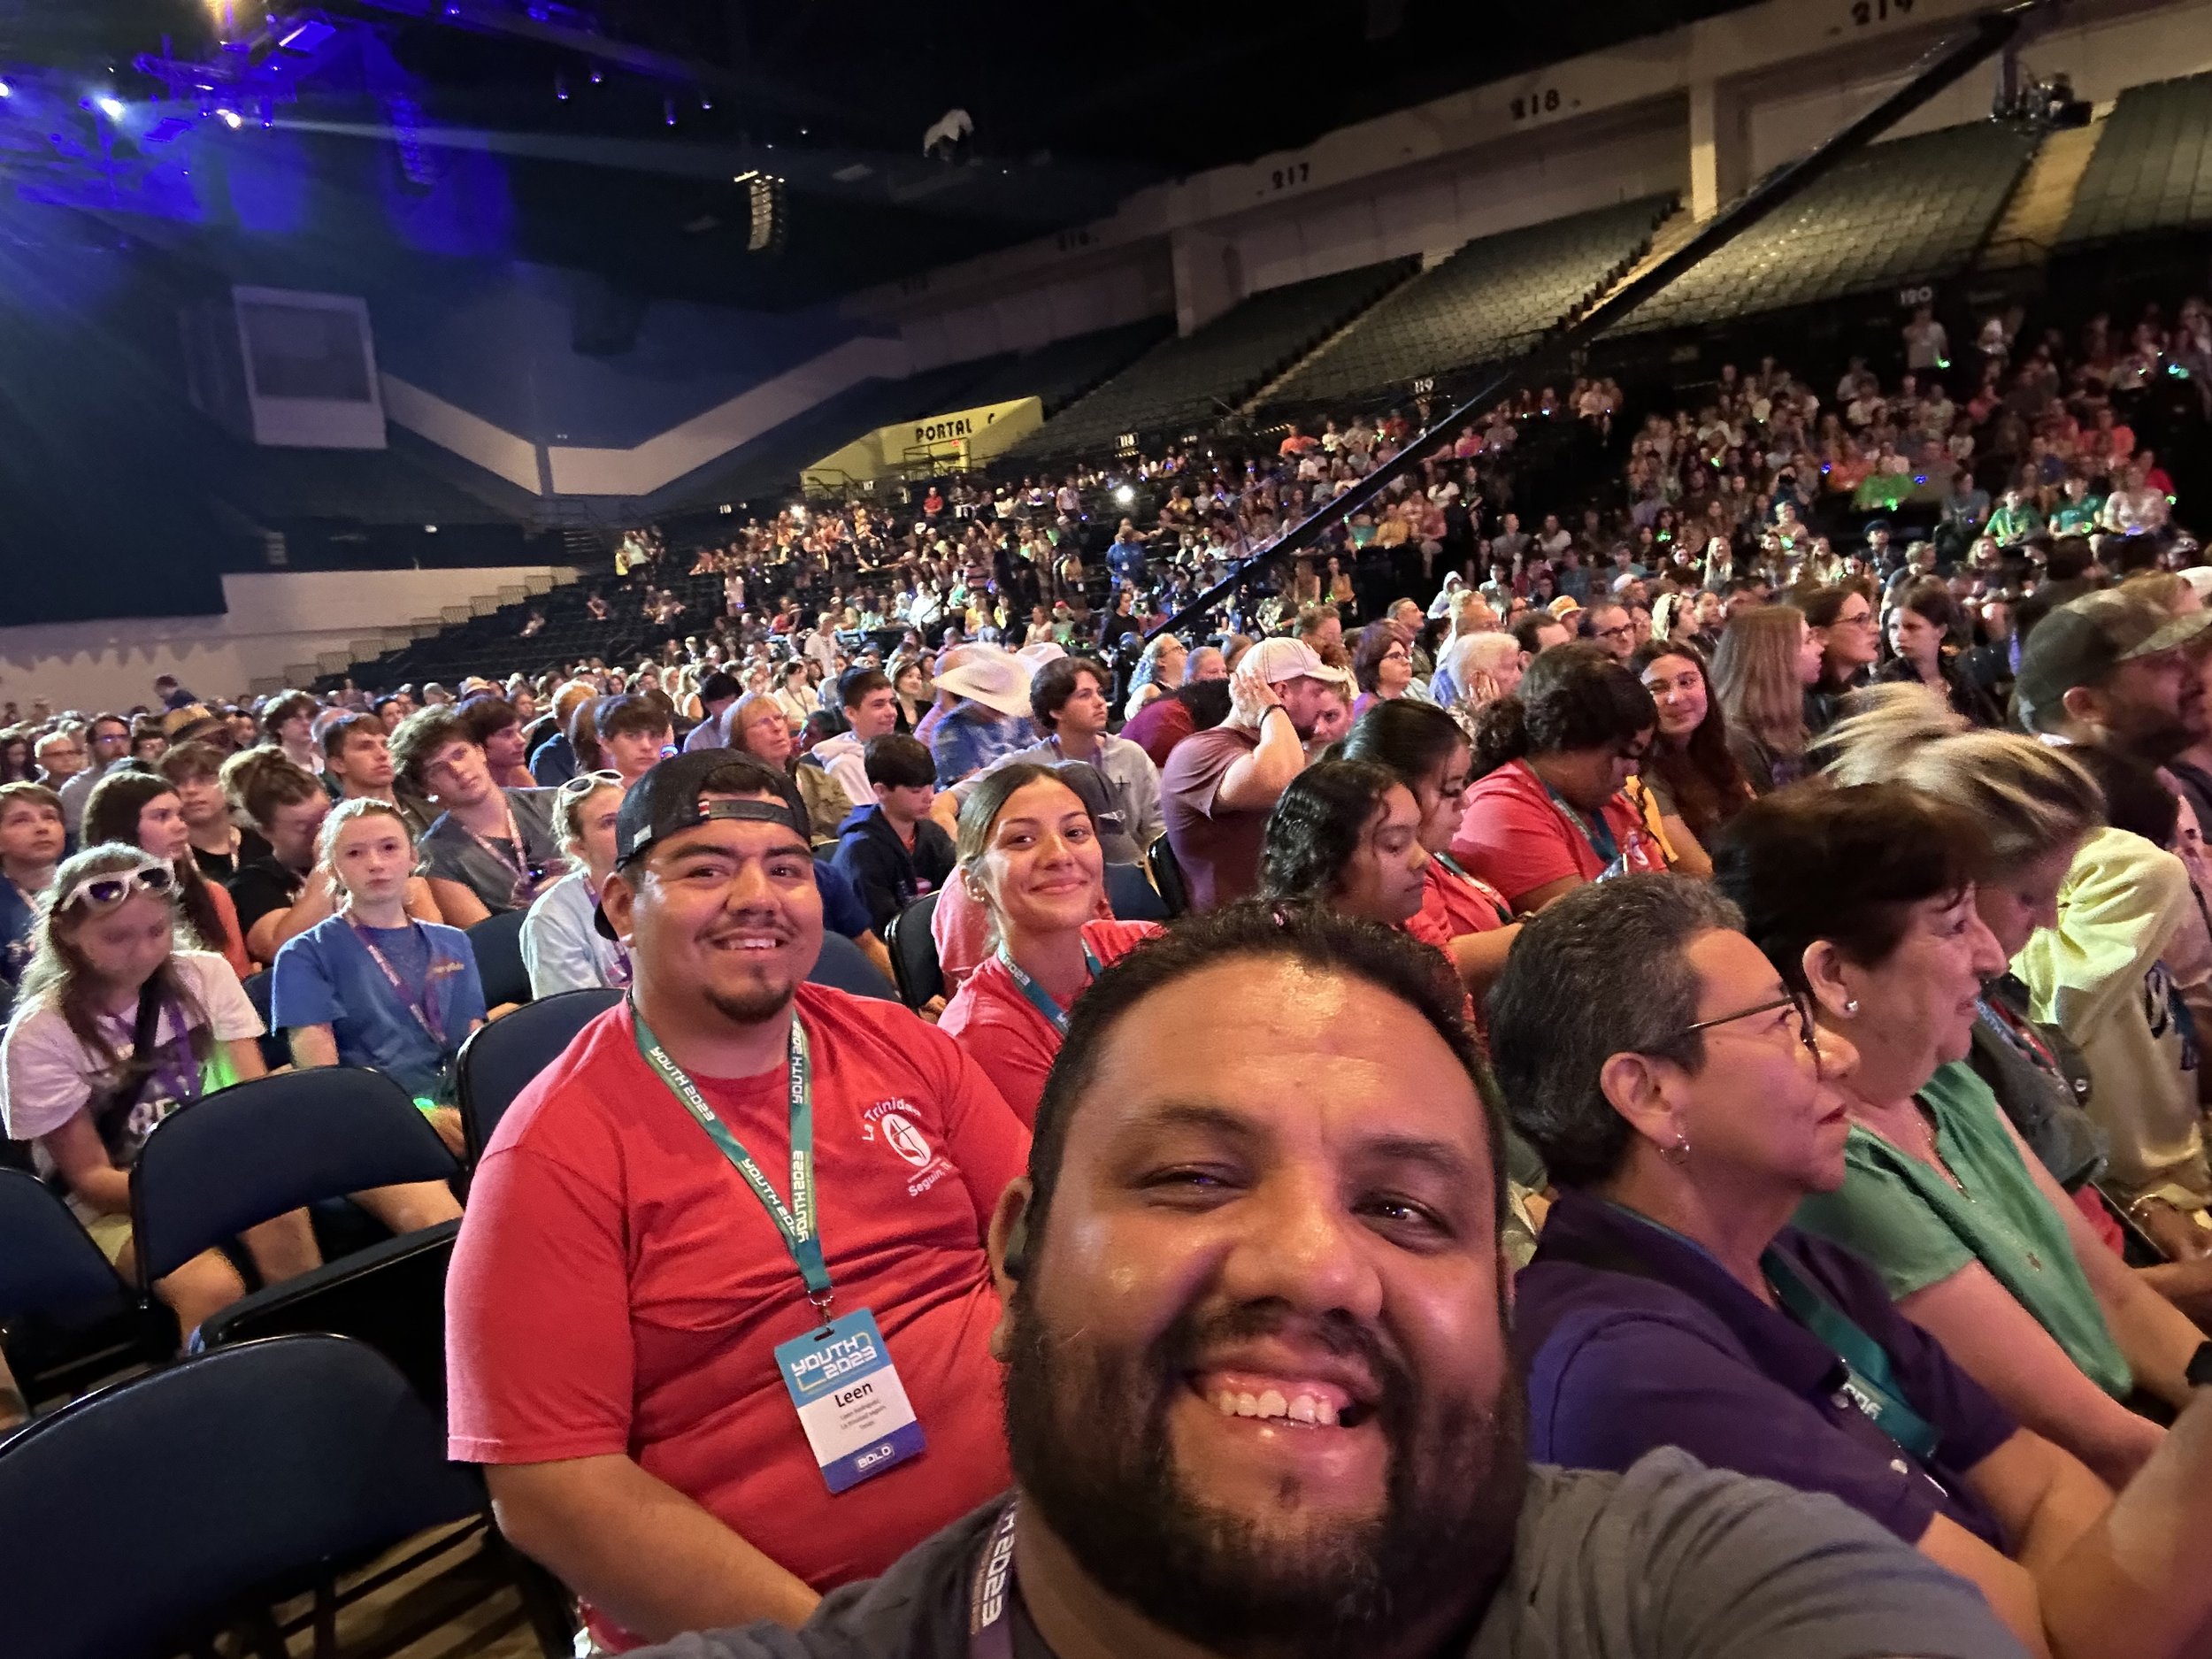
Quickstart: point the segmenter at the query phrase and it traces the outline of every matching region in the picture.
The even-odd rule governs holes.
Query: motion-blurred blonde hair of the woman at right
[[[1874,686],[1816,745],[1834,783],[1905,783],[1964,807],[1997,872],[2020,869],[2104,823],[2104,792],[2051,743],[1975,730],[1929,686]]]

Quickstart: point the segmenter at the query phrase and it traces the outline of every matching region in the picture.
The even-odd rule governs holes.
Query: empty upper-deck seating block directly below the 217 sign
[[[1161,341],[1009,451],[1013,460],[1113,449],[1124,431],[1221,416],[1413,274],[1411,259],[1267,288],[1181,338]]]

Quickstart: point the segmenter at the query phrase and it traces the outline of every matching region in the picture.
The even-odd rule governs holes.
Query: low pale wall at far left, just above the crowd
[[[0,703],[31,710],[131,708],[153,701],[155,675],[201,697],[241,697],[323,650],[352,653],[411,617],[434,617],[520,586],[549,566],[504,571],[270,571],[223,577],[219,617],[131,617],[0,628]]]

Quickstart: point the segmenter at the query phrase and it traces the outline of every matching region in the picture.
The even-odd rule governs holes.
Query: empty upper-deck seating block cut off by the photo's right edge
[[[2097,137],[2062,248],[2212,223],[2212,75],[2130,86]]]

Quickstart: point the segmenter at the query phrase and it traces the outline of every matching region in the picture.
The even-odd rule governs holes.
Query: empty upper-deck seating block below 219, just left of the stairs
[[[2035,137],[1995,122],[1876,144],[1668,283],[1613,334],[1725,323],[1969,265]]]

